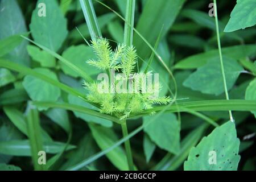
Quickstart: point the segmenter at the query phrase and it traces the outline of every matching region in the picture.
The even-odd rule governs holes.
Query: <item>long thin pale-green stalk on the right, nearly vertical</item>
[[[215,13],[215,24],[216,24],[216,32],[217,32],[217,41],[218,41],[218,52],[220,54],[221,72],[222,72],[222,77],[223,77],[223,82],[224,82],[226,100],[229,100],[229,93],[228,93],[228,89],[226,87],[226,76],[225,76],[225,69],[224,69],[222,52],[221,52],[220,32],[219,32],[219,28],[218,28],[217,3],[216,3],[216,0],[213,0],[213,2],[214,2],[214,13]],[[234,122],[231,110],[229,110],[229,116],[230,116],[230,121]]]

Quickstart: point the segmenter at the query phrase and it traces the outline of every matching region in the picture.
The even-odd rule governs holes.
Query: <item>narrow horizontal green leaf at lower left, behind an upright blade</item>
[[[43,151],[47,154],[57,154],[63,150],[65,143],[44,142]],[[75,146],[69,145],[67,150],[72,150]],[[31,156],[30,143],[28,140],[9,140],[0,142],[0,153],[14,156]]]

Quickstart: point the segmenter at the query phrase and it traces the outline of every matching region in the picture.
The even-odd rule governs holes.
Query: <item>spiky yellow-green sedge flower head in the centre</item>
[[[96,60],[88,60],[87,63],[101,69],[109,77],[104,81],[84,82],[84,87],[89,92],[87,99],[100,105],[101,113],[126,119],[131,113],[143,113],[154,105],[166,105],[171,101],[170,97],[155,97],[155,90],[159,92],[161,89],[159,82],[147,87],[146,92],[142,92],[146,86],[143,79],[151,76],[151,72],[134,73],[138,56],[133,46],[118,44],[112,51],[106,39],[94,40],[91,46]],[[111,70],[114,70],[114,73]],[[115,77],[115,71],[119,76],[111,81],[111,77]],[[105,92],[99,89],[102,87],[105,88]],[[118,92],[120,89],[123,92]]]

